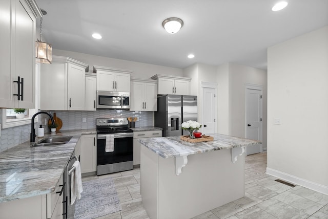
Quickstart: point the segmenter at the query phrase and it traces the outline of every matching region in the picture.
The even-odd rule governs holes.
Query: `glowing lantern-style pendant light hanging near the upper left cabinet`
[[[43,15],[47,12],[40,9]],[[52,62],[52,46],[42,41],[42,17],[40,17],[40,40],[36,39],[35,43],[36,61],[40,63],[50,63]]]

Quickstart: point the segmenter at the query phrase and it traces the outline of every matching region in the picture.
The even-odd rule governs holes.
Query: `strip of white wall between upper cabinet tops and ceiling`
[[[183,70],[165,67],[155,64],[147,64],[135,61],[107,58],[103,56],[89,55],[66,50],[53,50],[53,55],[66,56],[89,65],[89,72],[93,71],[93,65],[110,67],[115,69],[131,70],[131,77],[150,79],[156,74],[183,76]]]

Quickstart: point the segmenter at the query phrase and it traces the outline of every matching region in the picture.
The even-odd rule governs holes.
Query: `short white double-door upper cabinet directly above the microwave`
[[[131,71],[94,66],[97,73],[97,91],[130,92]]]

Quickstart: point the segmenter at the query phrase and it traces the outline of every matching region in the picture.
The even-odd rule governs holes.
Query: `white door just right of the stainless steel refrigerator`
[[[203,83],[202,83],[203,85]],[[216,84],[201,85],[202,134],[216,133]],[[212,87],[210,87],[212,85]]]

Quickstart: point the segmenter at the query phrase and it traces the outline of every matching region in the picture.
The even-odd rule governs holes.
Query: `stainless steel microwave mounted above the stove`
[[[97,91],[97,108],[128,109],[130,92]]]

